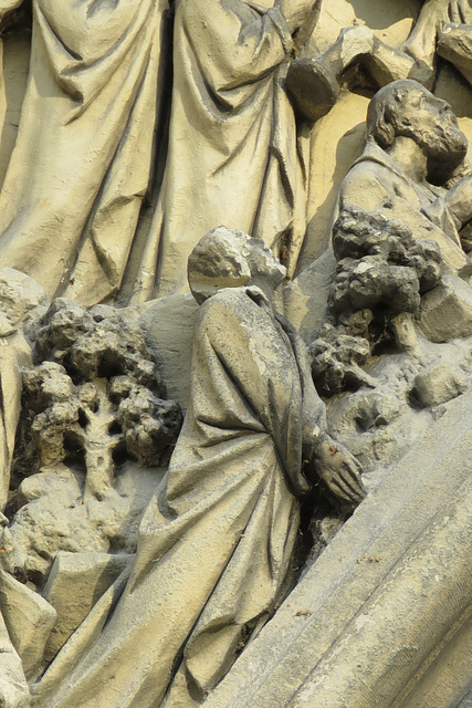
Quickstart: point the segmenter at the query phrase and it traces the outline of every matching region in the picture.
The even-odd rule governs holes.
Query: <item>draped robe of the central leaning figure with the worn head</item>
[[[106,596],[64,646],[35,706],[157,708],[179,666],[162,705],[193,706],[188,690],[202,700],[281,601],[308,488],[303,430],[324,426],[306,350],[259,289],[210,298],[193,346],[189,410],[130,579],[92,647]]]

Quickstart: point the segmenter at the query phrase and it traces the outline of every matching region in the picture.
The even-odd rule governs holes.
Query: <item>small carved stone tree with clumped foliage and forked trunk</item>
[[[112,487],[119,446],[143,465],[165,464],[181,414],[162,398],[139,327],[111,308],[86,311],[55,300],[39,324],[35,347],[44,361],[24,373],[24,385],[31,455],[39,455],[40,465],[82,451],[86,494],[99,498]]]

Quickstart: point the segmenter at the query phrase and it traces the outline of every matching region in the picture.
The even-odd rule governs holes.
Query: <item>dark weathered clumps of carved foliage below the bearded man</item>
[[[407,225],[382,214],[346,208],[333,228],[338,261],[328,298],[336,325],[324,325],[311,345],[313,375],[324,395],[369,385],[359,365],[389,339],[411,345],[396,317],[419,312],[421,295],[441,281],[436,241],[418,241]],[[405,334],[405,342],[401,341]]]

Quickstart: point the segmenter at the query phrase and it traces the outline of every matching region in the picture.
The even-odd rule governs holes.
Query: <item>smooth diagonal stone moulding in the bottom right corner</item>
[[[472,600],[471,405],[451,402],[370,491],[208,708],[386,708],[415,684]]]

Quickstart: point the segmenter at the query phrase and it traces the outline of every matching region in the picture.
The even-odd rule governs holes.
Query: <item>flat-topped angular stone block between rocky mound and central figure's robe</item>
[[[130,555],[108,553],[57,553],[42,592],[43,597],[57,613],[57,620],[44,649],[48,663],[54,658],[130,560]]]

